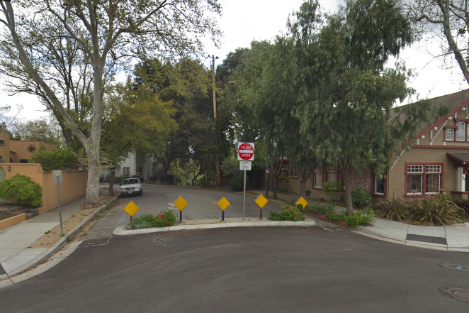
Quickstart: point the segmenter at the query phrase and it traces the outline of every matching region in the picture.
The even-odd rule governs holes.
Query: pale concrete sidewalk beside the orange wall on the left
[[[107,190],[100,190],[100,199]],[[62,222],[79,212],[84,197],[62,205]],[[20,273],[26,265],[40,258],[48,248],[30,248],[46,231],[60,225],[59,208],[52,209],[9,229],[0,231],[0,279]]]

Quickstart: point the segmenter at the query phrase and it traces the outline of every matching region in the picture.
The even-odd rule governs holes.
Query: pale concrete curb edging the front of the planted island
[[[239,222],[239,223],[220,223],[220,224],[198,224],[171,226],[165,228],[154,229],[132,229],[126,230],[124,226],[120,226],[113,231],[115,236],[130,236],[138,234],[159,233],[162,231],[181,231],[186,229],[220,229],[229,227],[259,227],[259,226],[316,226],[315,221],[269,221],[269,222]]]

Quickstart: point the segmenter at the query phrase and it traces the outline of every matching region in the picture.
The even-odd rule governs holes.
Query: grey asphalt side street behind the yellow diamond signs
[[[114,229],[118,226],[124,226],[130,220],[128,214],[123,210],[130,201],[133,201],[140,208],[135,216],[146,213],[157,215],[162,210],[171,209],[179,218],[179,209],[174,207],[173,204],[179,196],[182,196],[188,202],[187,207],[183,209],[183,219],[221,219],[222,211],[217,206],[217,202],[221,197],[227,198],[230,202],[230,207],[225,209],[225,218],[242,217],[243,197],[240,193],[209,190],[200,187],[149,185],[143,186],[142,197],[130,196],[118,199],[112,211],[103,216],[98,224],[88,232],[87,236],[84,236],[84,239],[111,238]],[[254,199],[256,198],[252,195],[246,195],[247,217],[259,216],[259,207]],[[269,211],[279,211],[280,209],[275,204],[266,204],[263,209],[264,219]]]

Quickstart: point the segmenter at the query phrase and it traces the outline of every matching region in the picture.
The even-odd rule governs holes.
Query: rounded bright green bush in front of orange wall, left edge
[[[30,177],[16,174],[0,182],[0,198],[15,199],[20,204],[40,207],[43,203],[43,188]]]

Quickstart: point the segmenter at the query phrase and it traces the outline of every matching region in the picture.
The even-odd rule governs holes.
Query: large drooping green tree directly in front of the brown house
[[[338,165],[344,178],[346,209],[353,212],[354,172],[385,172],[392,155],[417,131],[419,110],[408,120],[393,119],[397,100],[412,94],[402,65],[386,68],[412,43],[410,21],[396,1],[347,1],[329,16],[317,39],[305,49],[314,83],[300,106],[302,128],[317,143],[317,155]],[[415,118],[415,119],[414,119]]]

